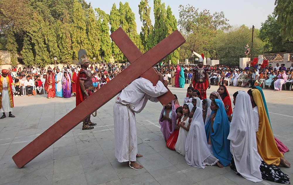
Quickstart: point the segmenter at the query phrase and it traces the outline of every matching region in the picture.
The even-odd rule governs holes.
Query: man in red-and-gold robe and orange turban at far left
[[[9,112],[9,117],[15,117],[11,114],[13,104],[13,80],[9,75],[9,71],[7,69],[2,69],[0,77],[0,111],[3,115],[0,119],[6,117],[5,112]],[[15,91],[15,89],[14,89]]]

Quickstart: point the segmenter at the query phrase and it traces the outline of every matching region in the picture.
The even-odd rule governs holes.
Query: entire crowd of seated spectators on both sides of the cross
[[[190,80],[192,78],[192,69],[195,67],[193,64],[189,65],[179,65],[180,68],[184,70],[184,78],[185,83],[190,84]],[[90,65],[88,70],[91,70],[92,73],[92,81],[94,90],[98,90],[103,85],[108,83],[112,78],[115,78],[122,70],[124,70],[127,66],[122,64],[121,66],[117,64],[107,65],[101,63],[98,67],[97,65]],[[256,64],[255,66],[247,66],[242,69],[238,66],[228,66],[228,65],[212,65],[206,66],[209,68],[209,78],[211,85],[233,85],[239,87],[253,87],[260,86],[261,88],[274,89],[274,90],[293,90],[293,63],[289,68],[285,68],[284,64],[276,66],[266,66],[265,68],[261,68],[260,64]],[[67,65],[62,66],[61,68],[54,67],[52,72],[56,74],[57,68],[60,72],[67,71],[70,76],[72,72],[79,72],[81,69],[79,65]],[[73,70],[71,70],[73,68]],[[157,65],[154,67],[155,70],[159,71],[163,74],[164,80],[169,80],[169,84],[172,84],[172,80],[175,80],[175,75],[177,65]],[[15,96],[23,96],[23,95],[37,95],[46,93],[44,89],[44,84],[46,80],[47,71],[43,67],[34,68],[33,66],[28,68],[18,68],[15,67],[12,69],[8,69],[10,71],[10,75],[14,80],[14,86],[16,88]],[[173,72],[173,73],[172,73]],[[173,76],[172,76],[173,74]],[[33,88],[31,88],[33,87]]]

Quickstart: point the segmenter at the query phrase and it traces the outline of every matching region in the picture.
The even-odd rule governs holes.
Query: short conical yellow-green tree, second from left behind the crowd
[[[34,65],[35,56],[33,54],[32,43],[29,36],[25,36],[23,39],[23,49],[21,50],[21,55],[23,57],[23,62],[25,65]]]

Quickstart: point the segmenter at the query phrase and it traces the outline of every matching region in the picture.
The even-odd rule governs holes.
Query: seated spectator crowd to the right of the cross
[[[185,83],[190,83],[192,78],[192,69],[195,65],[180,65],[184,70]],[[285,64],[276,63],[276,66],[266,66],[262,68],[260,64],[255,66],[247,66],[242,69],[238,66],[213,65],[206,66],[209,68],[209,78],[211,85],[233,85],[239,87],[260,86],[261,88],[274,90],[290,90],[293,83],[293,63],[289,68],[285,68]],[[172,81],[172,70],[176,65],[163,65],[159,71],[164,75],[169,83]],[[176,73],[177,74],[177,73]]]

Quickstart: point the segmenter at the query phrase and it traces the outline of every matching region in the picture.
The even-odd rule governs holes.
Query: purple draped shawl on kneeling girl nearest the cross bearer
[[[165,107],[163,107],[163,110],[161,112],[160,118],[159,118],[159,123],[161,125],[161,132],[163,134],[163,137],[165,139],[165,141],[167,141],[167,139],[170,137],[170,135],[174,132],[174,128],[175,128],[175,124],[176,124],[176,110],[175,110],[175,106],[174,106],[174,101],[172,100],[172,129],[170,129],[169,127],[169,121],[168,120],[164,120],[163,122],[161,122],[161,117],[164,116],[164,112],[165,112]],[[166,112],[165,114],[169,114],[169,112]]]

